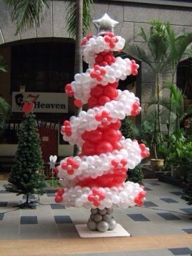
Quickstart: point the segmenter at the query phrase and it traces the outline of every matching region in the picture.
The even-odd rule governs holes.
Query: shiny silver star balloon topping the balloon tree
[[[102,35],[107,31],[113,32],[119,22],[111,19],[109,15],[105,13],[101,19],[93,20],[93,23],[98,29],[98,35]]]

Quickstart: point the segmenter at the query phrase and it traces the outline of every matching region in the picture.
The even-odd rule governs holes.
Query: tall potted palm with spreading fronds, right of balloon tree
[[[175,36],[173,29],[169,22],[161,22],[152,20],[149,22],[150,31],[146,33],[141,27],[140,36],[143,39],[143,44],[147,46],[145,51],[144,47],[138,44],[126,43],[124,52],[131,55],[135,59],[147,63],[147,65],[153,70],[155,75],[155,97],[151,100],[149,106],[153,105],[154,116],[151,115],[150,119],[153,119],[154,132],[151,135],[151,150],[154,158],[151,159],[151,166],[156,170],[162,170],[164,159],[159,159],[159,146],[164,143],[164,137],[162,133],[162,86],[164,73],[169,74],[169,79],[173,83],[175,70],[178,63],[183,58],[191,56],[192,33],[186,35]],[[169,71],[169,72],[167,72]],[[170,98],[174,97],[172,91],[170,91]],[[171,103],[170,113],[172,113],[173,105]],[[153,111],[150,111],[150,114]],[[171,114],[170,114],[171,116]],[[171,118],[171,117],[170,117]],[[171,120],[169,118],[169,124]],[[171,133],[171,125],[168,127],[168,134]]]

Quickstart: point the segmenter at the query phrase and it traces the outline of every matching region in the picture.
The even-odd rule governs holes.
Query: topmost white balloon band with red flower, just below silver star
[[[111,45],[111,40],[116,41],[116,43],[114,42]],[[89,64],[90,68],[95,63],[96,54],[104,51],[121,51],[125,45],[125,39],[121,36],[113,36],[111,34],[111,38],[108,38],[107,41],[105,36],[93,36],[82,45],[83,60]]]

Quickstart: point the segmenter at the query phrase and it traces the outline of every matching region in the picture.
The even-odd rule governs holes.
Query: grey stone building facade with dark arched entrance
[[[49,155],[73,155],[73,147],[62,141],[59,130],[62,121],[73,115],[73,102],[65,98],[63,85],[73,81],[75,44],[67,32],[68,1],[50,2],[50,9],[46,10],[41,26],[17,36],[14,35],[15,24],[11,20],[12,10],[0,2],[0,55],[10,65],[7,73],[0,74],[0,95],[12,105],[12,118],[0,144],[0,155],[15,153],[16,133],[22,120],[19,104],[29,96],[31,101],[36,102],[36,117],[45,161]],[[92,19],[100,18],[104,13],[119,22],[115,29],[117,35],[139,45],[143,43],[139,36],[140,27],[149,29],[148,21],[151,19],[169,21],[177,34],[192,31],[190,0],[94,1],[91,7]],[[90,32],[97,33],[93,25]],[[136,81],[126,81],[124,86],[135,92],[142,107],[145,107],[155,92],[155,79],[146,63],[140,63],[139,71]],[[189,74],[191,69],[186,72],[191,85]],[[190,89],[188,91],[190,102],[192,96]],[[59,101],[59,94],[63,95],[63,101]],[[51,101],[49,97],[54,100]],[[39,101],[40,98],[42,101]],[[136,123],[141,123],[143,118],[144,113]]]

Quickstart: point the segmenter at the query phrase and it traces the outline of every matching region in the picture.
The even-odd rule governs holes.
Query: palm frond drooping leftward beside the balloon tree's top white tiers
[[[150,67],[152,67],[149,55],[139,45],[125,44],[123,51],[137,60],[146,62]]]

